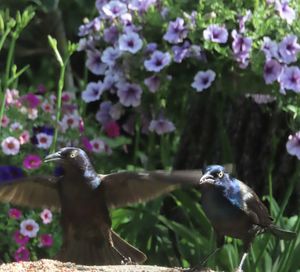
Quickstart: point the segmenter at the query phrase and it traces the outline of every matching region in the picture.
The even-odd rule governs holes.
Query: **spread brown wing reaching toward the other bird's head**
[[[173,172],[119,172],[99,175],[105,186],[106,203],[109,208],[122,207],[153,199],[185,185],[196,185],[202,173],[200,170],[179,170]]]

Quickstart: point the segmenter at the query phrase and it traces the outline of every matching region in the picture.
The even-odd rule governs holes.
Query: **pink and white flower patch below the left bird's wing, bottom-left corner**
[[[29,261],[52,256],[57,250],[57,219],[48,209],[37,212],[22,212],[16,208],[1,210],[7,219],[1,223],[1,251],[5,261]],[[55,233],[56,232],[56,233]],[[8,250],[7,250],[8,249]]]

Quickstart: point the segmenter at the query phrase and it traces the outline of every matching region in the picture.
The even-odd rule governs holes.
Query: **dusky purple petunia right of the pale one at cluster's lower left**
[[[141,104],[142,92],[139,85],[125,83],[119,86],[117,95],[122,105],[137,107]]]

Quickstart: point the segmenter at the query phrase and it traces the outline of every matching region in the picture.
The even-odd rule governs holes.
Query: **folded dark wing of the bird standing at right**
[[[267,207],[260,201],[256,193],[245,183],[237,180],[241,189],[244,205],[242,210],[248,214],[253,223],[267,227],[272,223]]]

